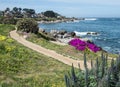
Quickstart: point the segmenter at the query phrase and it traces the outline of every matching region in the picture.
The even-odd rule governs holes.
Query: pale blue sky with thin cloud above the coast
[[[120,17],[120,0],[0,0],[0,10],[7,7],[53,10],[67,17]]]

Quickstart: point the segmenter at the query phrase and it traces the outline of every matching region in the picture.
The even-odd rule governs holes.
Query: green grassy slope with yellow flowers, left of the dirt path
[[[1,87],[65,87],[64,73],[70,70],[57,60],[36,53],[9,37],[13,25],[0,25]]]

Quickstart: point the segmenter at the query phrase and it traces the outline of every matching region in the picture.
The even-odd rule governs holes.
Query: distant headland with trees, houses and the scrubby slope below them
[[[36,13],[34,9],[18,7],[0,10],[0,24],[16,24],[21,18],[33,18],[36,21],[54,21],[57,18],[62,19],[63,16],[51,10],[41,13]]]

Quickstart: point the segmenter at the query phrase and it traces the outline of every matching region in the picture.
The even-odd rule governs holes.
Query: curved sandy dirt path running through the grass
[[[52,57],[64,64],[67,64],[67,65],[74,65],[74,67],[78,68],[78,63],[80,64],[80,68],[82,70],[84,70],[84,61],[80,61],[80,60],[74,60],[74,59],[71,59],[71,58],[68,58],[68,57],[65,57],[63,55],[60,55],[58,53],[56,53],[55,51],[53,50],[49,50],[49,49],[46,49],[46,48],[43,48],[41,47],[40,45],[36,45],[32,42],[29,42],[27,40],[25,40],[23,37],[19,36],[17,33],[16,33],[16,30],[14,31],[11,31],[10,32],[10,36],[11,38],[15,39],[17,42],[23,44],[24,46],[34,50],[34,51],[37,51],[41,54],[44,54],[46,56],[49,56],[49,57]],[[90,63],[87,63],[88,65],[88,68],[91,68],[91,64]]]

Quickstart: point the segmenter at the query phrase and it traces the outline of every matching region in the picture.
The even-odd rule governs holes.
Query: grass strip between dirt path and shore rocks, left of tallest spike
[[[79,52],[77,55],[76,55],[76,50],[69,46],[69,45],[57,45],[55,43],[52,43],[48,40],[45,40],[44,38],[38,38],[36,35],[32,35],[30,36],[30,38],[28,38],[27,40],[35,43],[35,44],[38,44],[42,47],[45,47],[47,49],[50,49],[50,50],[55,50],[57,53],[59,54],[62,54],[62,55],[65,55],[65,56],[71,56],[73,57],[74,59],[82,59],[82,56],[80,57],[79,55],[81,55],[81,53]],[[74,56],[73,56],[74,55]]]

